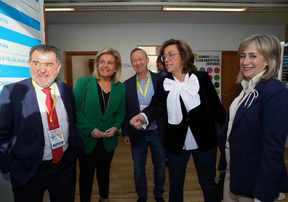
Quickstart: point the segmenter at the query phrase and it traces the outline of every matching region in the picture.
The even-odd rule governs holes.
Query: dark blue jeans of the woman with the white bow
[[[183,149],[178,156],[167,151],[170,181],[169,202],[183,202],[186,166],[191,154],[203,191],[204,202],[220,202],[216,198],[215,186],[217,147],[205,152],[201,152],[199,149]]]

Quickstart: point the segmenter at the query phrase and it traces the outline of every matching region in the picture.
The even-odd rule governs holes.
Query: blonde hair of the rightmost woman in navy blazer
[[[267,81],[269,78],[277,78],[278,70],[281,64],[281,44],[276,36],[272,33],[255,33],[245,38],[238,49],[238,59],[251,44],[255,45],[259,54],[263,55],[268,61],[266,72],[260,77],[260,81]],[[241,69],[236,77],[236,83],[241,84],[245,78]]]

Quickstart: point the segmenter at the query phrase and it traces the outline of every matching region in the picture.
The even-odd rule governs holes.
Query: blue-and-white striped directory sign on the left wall
[[[0,0],[0,93],[30,77],[30,48],[44,43],[42,6],[43,0]]]

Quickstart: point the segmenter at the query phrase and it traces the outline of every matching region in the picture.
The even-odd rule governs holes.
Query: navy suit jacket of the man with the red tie
[[[56,81],[69,121],[69,148],[79,157],[82,140],[76,129],[71,88]],[[41,114],[32,78],[5,85],[0,95],[0,169],[10,172],[12,186],[21,186],[37,172],[44,152]]]

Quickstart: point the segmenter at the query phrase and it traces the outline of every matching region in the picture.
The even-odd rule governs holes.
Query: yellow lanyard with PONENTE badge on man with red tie
[[[36,89],[36,92],[37,92],[36,95],[37,95],[38,94],[38,87],[35,85],[35,82],[33,80],[32,80],[32,84],[33,84],[34,88]],[[56,105],[56,87],[55,87],[55,82],[54,82],[54,101],[53,101],[53,107],[52,107],[52,110],[51,110],[51,115],[49,113],[49,110],[48,110],[44,100],[40,96],[37,96],[37,97],[41,100],[41,102],[45,106],[46,112],[47,112],[47,114],[48,114],[48,116],[50,118],[50,123],[52,124],[52,127],[54,127],[53,121],[52,121],[52,114],[53,114],[53,111],[54,111],[55,105]],[[57,147],[61,147],[61,146],[65,145],[65,140],[64,140],[64,138],[62,138],[63,132],[62,132],[62,128],[60,127],[60,125],[59,125],[59,128],[55,128],[53,130],[49,130],[49,128],[48,128],[47,132],[48,132],[48,135],[49,135],[49,139],[50,139],[50,143],[51,143],[52,149],[56,149]]]

